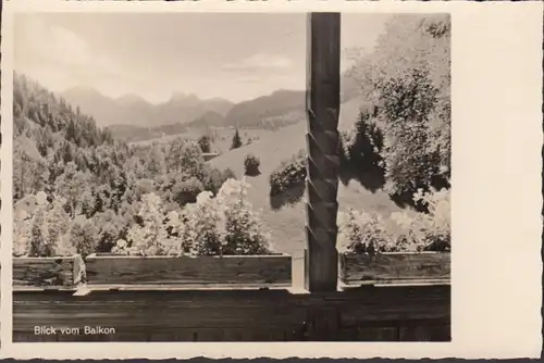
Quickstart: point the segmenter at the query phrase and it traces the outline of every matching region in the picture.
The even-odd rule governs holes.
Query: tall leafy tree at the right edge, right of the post
[[[449,16],[395,16],[351,76],[378,110],[390,193],[411,199],[418,188],[448,186]]]

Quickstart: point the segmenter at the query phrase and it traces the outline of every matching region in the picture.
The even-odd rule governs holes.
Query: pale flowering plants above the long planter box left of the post
[[[181,212],[165,213],[154,195],[143,197],[138,223],[112,252],[136,255],[232,255],[270,253],[270,234],[245,199],[249,186],[228,179],[213,198],[202,191]]]

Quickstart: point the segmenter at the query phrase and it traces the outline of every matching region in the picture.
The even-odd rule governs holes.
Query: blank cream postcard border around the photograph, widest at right
[[[452,335],[421,342],[12,343],[12,14],[91,12],[448,12],[453,22]],[[2,21],[1,356],[537,358],[542,305],[542,2],[10,1]],[[144,26],[144,25],[143,25]],[[493,184],[490,180],[493,179]],[[516,186],[516,187],[514,187]]]

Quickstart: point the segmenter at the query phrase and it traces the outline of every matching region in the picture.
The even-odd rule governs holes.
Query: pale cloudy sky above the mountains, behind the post
[[[372,49],[387,18],[343,15],[342,48]],[[305,88],[305,14],[18,14],[14,37],[15,70],[53,91],[237,102]]]

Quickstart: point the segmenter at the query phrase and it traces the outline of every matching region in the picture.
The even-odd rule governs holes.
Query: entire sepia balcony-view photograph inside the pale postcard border
[[[450,341],[452,32],[15,14],[13,341]]]

